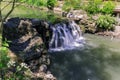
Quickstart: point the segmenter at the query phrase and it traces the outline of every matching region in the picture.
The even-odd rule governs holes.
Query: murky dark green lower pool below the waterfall
[[[58,80],[120,80],[120,40],[85,34],[84,49],[51,54]]]

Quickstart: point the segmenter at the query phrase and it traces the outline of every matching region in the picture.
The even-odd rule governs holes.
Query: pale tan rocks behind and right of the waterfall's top
[[[96,20],[98,19],[98,15],[94,15],[89,17],[84,10],[71,10],[68,13],[63,13],[69,19],[74,20],[78,23],[83,32],[87,33],[95,33],[96,32]]]

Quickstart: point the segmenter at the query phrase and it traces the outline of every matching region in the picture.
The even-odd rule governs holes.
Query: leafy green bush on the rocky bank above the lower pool
[[[104,30],[112,30],[113,25],[116,23],[115,19],[110,15],[101,15],[97,21],[97,27]]]

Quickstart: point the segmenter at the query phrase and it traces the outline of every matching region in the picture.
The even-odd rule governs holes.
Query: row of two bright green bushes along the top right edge
[[[103,13],[112,14],[115,3],[112,1],[102,2],[102,0],[89,0],[86,11],[90,14]]]

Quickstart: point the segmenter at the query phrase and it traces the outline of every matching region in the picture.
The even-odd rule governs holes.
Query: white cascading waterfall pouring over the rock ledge
[[[83,47],[85,43],[80,27],[74,21],[55,24],[51,29],[53,35],[49,43],[49,51],[71,50]]]

